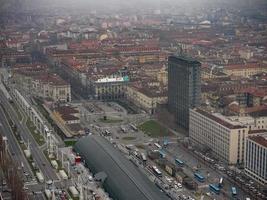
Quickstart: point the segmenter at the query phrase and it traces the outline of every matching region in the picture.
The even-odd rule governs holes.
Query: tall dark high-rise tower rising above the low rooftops
[[[168,108],[177,124],[189,129],[189,109],[200,105],[201,63],[187,57],[168,59]]]

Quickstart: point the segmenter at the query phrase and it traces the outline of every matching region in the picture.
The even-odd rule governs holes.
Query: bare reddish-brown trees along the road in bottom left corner
[[[6,142],[2,136],[0,136],[0,170],[2,171],[2,178],[6,180],[7,186],[11,189],[12,199],[28,199],[23,190],[23,181],[18,171],[18,165],[10,158]]]

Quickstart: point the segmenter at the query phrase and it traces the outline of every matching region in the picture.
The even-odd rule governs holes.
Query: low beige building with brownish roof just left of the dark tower
[[[167,102],[166,91],[159,91],[158,87],[128,86],[126,96],[128,101],[150,114],[155,113],[158,104]]]

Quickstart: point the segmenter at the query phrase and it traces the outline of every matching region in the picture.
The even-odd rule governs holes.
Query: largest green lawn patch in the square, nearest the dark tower
[[[148,134],[151,137],[164,137],[172,135],[167,128],[161,126],[155,120],[148,120],[144,122],[138,126],[138,129],[142,130],[145,134]]]

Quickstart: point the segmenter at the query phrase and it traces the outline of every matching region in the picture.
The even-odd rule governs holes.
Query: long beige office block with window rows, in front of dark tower
[[[244,163],[245,138],[249,129],[219,114],[190,109],[189,139],[194,145],[210,148],[222,161]]]

